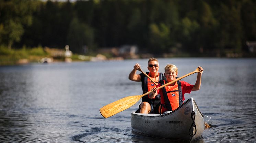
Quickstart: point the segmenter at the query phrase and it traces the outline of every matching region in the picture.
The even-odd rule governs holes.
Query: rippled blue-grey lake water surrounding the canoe
[[[0,142],[176,142],[132,131],[131,112],[139,103],[104,119],[99,108],[142,94],[128,80],[135,63],[148,59],[0,66]],[[212,128],[193,142],[256,142],[256,59],[159,59],[179,68],[178,76],[204,68],[193,97]],[[137,73],[140,73],[137,71]],[[191,84],[193,74],[186,78]]]

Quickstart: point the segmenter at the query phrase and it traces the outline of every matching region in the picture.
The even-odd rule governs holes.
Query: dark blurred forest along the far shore
[[[255,0],[0,0],[0,47],[255,57],[246,45],[256,41],[255,8]]]

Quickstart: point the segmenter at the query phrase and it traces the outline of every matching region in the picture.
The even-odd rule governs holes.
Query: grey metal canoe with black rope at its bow
[[[203,115],[193,98],[162,115],[132,112],[131,127],[139,134],[184,141],[199,139],[205,129]]]

